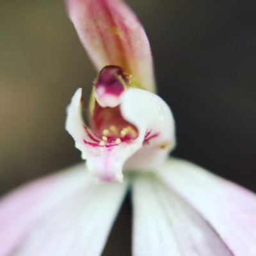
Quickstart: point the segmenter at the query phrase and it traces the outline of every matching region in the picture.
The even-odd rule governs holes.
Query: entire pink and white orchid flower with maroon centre
[[[256,196],[182,159],[155,94],[147,36],[122,0],[66,0],[99,75],[88,120],[79,88],[66,129],[84,163],[0,202],[0,256],[99,256],[131,189],[132,255],[256,255]],[[95,182],[96,180],[96,182]]]

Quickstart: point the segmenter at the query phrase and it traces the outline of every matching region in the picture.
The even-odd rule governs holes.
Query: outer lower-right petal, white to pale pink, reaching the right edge
[[[159,175],[202,214],[234,255],[256,255],[254,193],[179,159],[164,164]]]

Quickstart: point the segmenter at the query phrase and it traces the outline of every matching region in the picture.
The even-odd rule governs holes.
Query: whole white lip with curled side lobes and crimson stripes
[[[127,168],[152,170],[166,159],[175,145],[172,113],[154,93],[130,88],[122,94],[121,114],[139,131],[138,137],[131,141],[105,145],[104,141],[95,140],[90,129],[84,125],[81,107],[79,89],[68,106],[66,129],[83,157],[86,157],[89,170],[100,182],[122,181],[122,169],[129,157]]]

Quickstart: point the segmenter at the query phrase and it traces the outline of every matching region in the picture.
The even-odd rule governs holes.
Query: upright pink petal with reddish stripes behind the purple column
[[[125,69],[155,91],[152,54],[140,21],[122,0],[66,0],[70,20],[97,70]]]

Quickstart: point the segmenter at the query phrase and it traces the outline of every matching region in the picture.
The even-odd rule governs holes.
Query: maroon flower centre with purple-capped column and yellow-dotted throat
[[[113,65],[104,67],[95,80],[90,122],[99,145],[128,143],[138,137],[138,129],[124,120],[120,112],[122,93],[130,86],[129,76]]]

